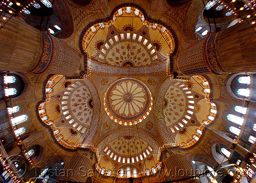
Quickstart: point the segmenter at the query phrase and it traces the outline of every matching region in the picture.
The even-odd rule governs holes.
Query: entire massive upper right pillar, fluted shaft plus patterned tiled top
[[[178,55],[178,69],[184,75],[255,72],[254,29],[243,22],[208,35]]]

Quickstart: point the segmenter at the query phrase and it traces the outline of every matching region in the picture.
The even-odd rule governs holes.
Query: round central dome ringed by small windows
[[[148,87],[134,78],[122,78],[110,85],[104,96],[104,109],[112,121],[135,125],[147,118],[153,98]]]

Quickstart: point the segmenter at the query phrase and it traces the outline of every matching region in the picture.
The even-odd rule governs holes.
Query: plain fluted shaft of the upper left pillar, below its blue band
[[[30,72],[42,55],[41,32],[15,17],[0,30],[0,42],[1,71]]]

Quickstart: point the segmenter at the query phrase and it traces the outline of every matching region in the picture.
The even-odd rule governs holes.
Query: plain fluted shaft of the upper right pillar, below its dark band
[[[219,32],[215,42],[218,62],[226,73],[256,71],[255,26],[250,20]]]

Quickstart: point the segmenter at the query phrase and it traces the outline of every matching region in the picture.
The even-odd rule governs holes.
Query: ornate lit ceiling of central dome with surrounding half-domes
[[[166,149],[196,145],[216,117],[210,80],[166,75],[175,33],[142,12],[123,6],[84,28],[80,49],[88,53],[89,74],[48,77],[37,105],[55,143],[91,150],[99,172],[127,166],[138,176],[156,171]]]

